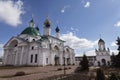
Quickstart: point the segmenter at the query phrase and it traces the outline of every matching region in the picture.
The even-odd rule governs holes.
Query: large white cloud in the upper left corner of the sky
[[[5,22],[11,26],[21,24],[21,15],[24,14],[23,2],[18,0],[0,0],[0,21]]]

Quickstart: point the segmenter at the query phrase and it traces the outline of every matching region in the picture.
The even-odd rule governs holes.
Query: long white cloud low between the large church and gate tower
[[[65,43],[66,45],[69,45],[74,49],[90,49],[93,48],[95,45],[97,45],[97,40],[90,41],[85,38],[79,38],[73,35],[72,32],[69,32],[67,34],[62,34],[60,38],[66,41]]]

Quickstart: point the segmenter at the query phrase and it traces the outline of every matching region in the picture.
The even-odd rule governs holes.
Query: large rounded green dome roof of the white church
[[[40,33],[39,31],[34,28],[34,27],[27,27],[26,29],[24,29],[21,34],[28,34],[28,35],[32,35],[32,36],[39,36]]]

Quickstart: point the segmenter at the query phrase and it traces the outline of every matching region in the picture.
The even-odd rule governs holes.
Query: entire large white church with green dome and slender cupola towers
[[[56,36],[51,35],[51,22],[44,21],[43,35],[34,27],[34,20],[18,36],[12,37],[4,45],[3,65],[14,66],[47,66],[75,64],[74,49],[64,46],[65,41],[59,38],[60,30],[55,29]]]

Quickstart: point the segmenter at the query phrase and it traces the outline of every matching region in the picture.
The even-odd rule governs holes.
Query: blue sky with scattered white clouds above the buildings
[[[76,56],[95,55],[100,37],[111,52],[120,34],[120,0],[0,0],[0,56],[3,45],[20,34],[34,15],[43,34],[43,22],[49,16],[52,35],[60,28],[61,39],[75,49]]]

